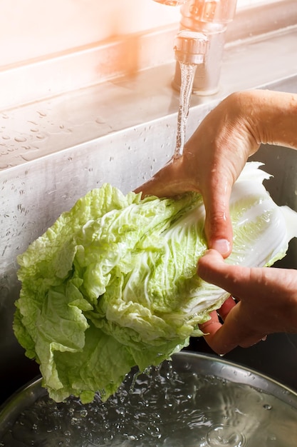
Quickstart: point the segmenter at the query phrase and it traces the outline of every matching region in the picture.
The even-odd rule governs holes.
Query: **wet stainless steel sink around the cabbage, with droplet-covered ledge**
[[[297,26],[229,41],[219,92],[193,96],[188,134],[231,91],[297,92],[296,49]],[[0,403],[38,374],[12,331],[16,256],[90,189],[110,182],[130,191],[170,159],[179,105],[174,64],[0,112]],[[274,175],[267,184],[273,198],[297,210],[296,157],[292,149],[263,146],[254,158]],[[293,241],[282,266],[297,267],[296,249]],[[296,347],[297,336],[269,336],[227,357],[297,389]],[[208,350],[202,339],[191,348]]]

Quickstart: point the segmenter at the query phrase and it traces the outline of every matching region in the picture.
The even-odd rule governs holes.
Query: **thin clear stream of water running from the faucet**
[[[177,115],[177,143],[174,151],[174,158],[182,156],[184,151],[184,143],[186,140],[187,118],[189,115],[189,106],[191,103],[191,95],[193,82],[197,64],[180,64],[181,86],[179,95],[179,111]]]

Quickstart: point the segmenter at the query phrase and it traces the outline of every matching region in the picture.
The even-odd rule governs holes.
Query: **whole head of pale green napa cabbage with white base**
[[[296,236],[297,214],[274,204],[259,166],[246,164],[231,194],[229,263],[269,266]],[[203,228],[199,194],[142,200],[105,184],[18,257],[14,331],[53,399],[108,398],[132,366],[157,365],[202,335],[198,324],[228,296],[197,276]]]

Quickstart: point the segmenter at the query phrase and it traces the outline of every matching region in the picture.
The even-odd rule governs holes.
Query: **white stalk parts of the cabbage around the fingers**
[[[230,214],[234,228],[233,250],[226,263],[246,267],[271,266],[283,258],[288,243],[297,237],[297,213],[288,206],[278,206],[266,191],[263,181],[271,175],[259,169],[260,162],[249,162],[233,186],[230,198]],[[184,216],[177,225],[187,226],[187,221],[195,219],[197,210]],[[199,215],[204,219],[204,207]],[[188,221],[188,222],[189,222]],[[191,224],[189,224],[191,225]],[[170,228],[169,233],[174,231]],[[217,303],[222,303],[229,293],[217,286],[204,283],[199,289],[201,297],[184,308],[188,313],[201,313]],[[191,306],[192,304],[192,306]]]

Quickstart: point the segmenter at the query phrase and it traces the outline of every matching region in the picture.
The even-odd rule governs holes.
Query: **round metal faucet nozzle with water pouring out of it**
[[[175,59],[183,64],[203,64],[208,39],[197,31],[182,30],[174,41]]]

